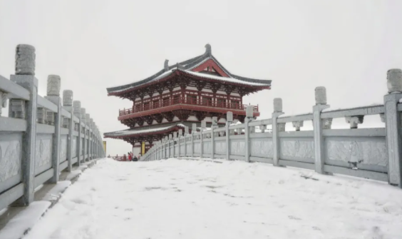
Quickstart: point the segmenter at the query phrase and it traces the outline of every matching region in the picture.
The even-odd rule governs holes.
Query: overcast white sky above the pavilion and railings
[[[381,103],[386,71],[402,68],[401,12],[401,0],[0,0],[0,74],[14,73],[17,44],[31,44],[39,93],[58,74],[100,131],[117,131],[125,128],[118,109],[130,101],[105,88],[148,77],[165,59],[198,56],[209,43],[232,73],[272,79],[271,91],[244,98],[261,118],[276,97],[286,113],[311,111],[316,86],[326,86],[333,108],[363,106]],[[108,139],[108,153],[127,151]]]

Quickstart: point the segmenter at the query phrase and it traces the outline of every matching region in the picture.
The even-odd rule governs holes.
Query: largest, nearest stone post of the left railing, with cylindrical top
[[[36,106],[38,79],[35,77],[35,48],[16,46],[15,75],[10,80],[29,91],[29,101],[10,99],[9,117],[26,119],[26,131],[21,145],[21,172],[24,195],[14,205],[29,205],[33,201],[36,148]],[[1,107],[1,106],[0,106]]]

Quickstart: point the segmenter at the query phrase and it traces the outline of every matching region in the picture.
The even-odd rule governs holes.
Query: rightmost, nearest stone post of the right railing
[[[402,98],[402,70],[387,72],[388,94],[384,96],[386,144],[388,147],[388,183],[402,188],[401,112],[398,103]]]

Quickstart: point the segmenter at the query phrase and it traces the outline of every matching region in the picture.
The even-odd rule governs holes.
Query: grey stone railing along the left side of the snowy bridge
[[[73,101],[73,91],[63,91],[61,99],[60,76],[48,76],[47,83],[47,96],[38,96],[35,49],[17,46],[15,75],[0,76],[0,210],[29,205],[39,185],[57,183],[73,164],[105,156],[100,131]],[[9,117],[1,117],[7,101]]]

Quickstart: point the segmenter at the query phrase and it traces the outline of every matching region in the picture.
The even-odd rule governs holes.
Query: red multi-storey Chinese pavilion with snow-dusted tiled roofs
[[[105,138],[120,138],[145,151],[172,132],[202,120],[225,124],[227,111],[234,121],[244,122],[243,96],[271,88],[270,80],[234,75],[212,56],[205,46],[201,56],[165,67],[153,76],[123,86],[108,88],[108,96],[128,98],[133,107],[119,111],[118,120],[127,130],[105,133]],[[253,106],[254,117],[259,116]]]

